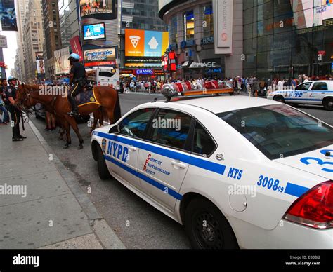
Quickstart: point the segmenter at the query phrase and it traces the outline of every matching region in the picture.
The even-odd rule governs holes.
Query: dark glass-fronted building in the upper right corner
[[[244,76],[333,74],[333,0],[244,1]]]

